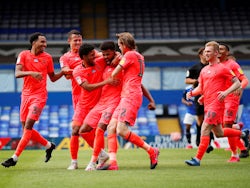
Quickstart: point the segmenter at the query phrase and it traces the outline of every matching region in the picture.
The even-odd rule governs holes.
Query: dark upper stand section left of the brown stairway
[[[22,41],[35,31],[48,40],[65,40],[71,29],[80,30],[79,1],[6,1],[0,6],[0,40]]]

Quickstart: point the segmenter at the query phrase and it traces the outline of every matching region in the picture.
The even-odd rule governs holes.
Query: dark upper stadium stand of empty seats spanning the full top
[[[137,39],[249,38],[247,5],[243,0],[9,0],[0,7],[0,40],[25,40],[34,31],[64,40],[73,28],[87,39],[112,39],[123,31]]]

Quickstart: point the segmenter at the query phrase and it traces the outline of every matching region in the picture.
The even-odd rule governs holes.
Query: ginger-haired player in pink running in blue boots
[[[198,87],[187,93],[187,98],[203,94],[205,110],[198,151],[194,158],[185,161],[190,166],[200,166],[200,161],[209,145],[209,135],[212,130],[217,137],[237,136],[247,140],[249,135],[249,130],[241,132],[232,128],[222,128],[224,99],[240,87],[240,82],[230,69],[220,63],[218,54],[219,44],[217,42],[206,43],[204,55],[209,64],[200,73]],[[228,81],[232,82],[230,87],[225,84]]]

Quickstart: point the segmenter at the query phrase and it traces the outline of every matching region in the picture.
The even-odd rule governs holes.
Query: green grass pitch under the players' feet
[[[16,166],[0,166],[1,188],[240,188],[248,187],[250,158],[228,163],[230,152],[215,149],[205,154],[200,167],[190,167],[184,160],[194,156],[196,149],[160,149],[159,163],[150,170],[149,158],[142,149],[119,149],[118,171],[84,169],[91,150],[79,151],[79,169],[69,171],[69,150],[55,150],[44,163],[45,150],[24,150]],[[1,162],[13,154],[0,151]]]

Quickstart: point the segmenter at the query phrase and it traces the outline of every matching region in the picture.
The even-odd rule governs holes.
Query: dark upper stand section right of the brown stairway
[[[118,0],[108,3],[110,38],[124,30],[141,39],[249,37],[249,6],[223,2]]]

